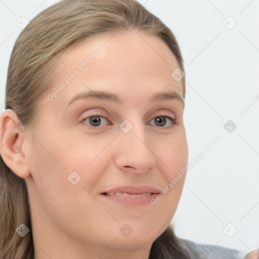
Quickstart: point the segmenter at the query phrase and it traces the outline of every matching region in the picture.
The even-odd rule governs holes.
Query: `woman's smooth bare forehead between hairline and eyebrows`
[[[158,37],[137,31],[106,32],[58,55],[49,93],[63,84],[64,103],[89,89],[114,92],[135,102],[141,102],[136,94],[143,100],[165,89],[183,97],[182,81],[171,76],[178,67],[174,54]],[[72,74],[76,76],[68,79]]]

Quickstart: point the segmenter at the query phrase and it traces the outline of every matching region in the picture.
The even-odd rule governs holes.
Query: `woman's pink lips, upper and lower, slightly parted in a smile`
[[[151,193],[150,196],[140,196],[140,197],[130,197],[130,196],[110,196],[105,195],[109,192],[125,192],[129,194],[142,194],[142,193]],[[119,203],[123,206],[143,206],[151,204],[151,199],[155,198],[161,191],[155,186],[118,186],[106,189],[100,195],[106,200],[111,201],[112,203]]]

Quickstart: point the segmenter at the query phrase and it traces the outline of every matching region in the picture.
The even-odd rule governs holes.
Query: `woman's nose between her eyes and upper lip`
[[[133,125],[130,132],[119,131],[116,140],[115,165],[124,171],[143,173],[155,166],[155,154],[142,123]]]

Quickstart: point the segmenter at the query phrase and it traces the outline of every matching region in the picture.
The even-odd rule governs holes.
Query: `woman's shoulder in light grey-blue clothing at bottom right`
[[[242,251],[218,245],[200,244],[179,238],[193,255],[193,259],[245,259]]]

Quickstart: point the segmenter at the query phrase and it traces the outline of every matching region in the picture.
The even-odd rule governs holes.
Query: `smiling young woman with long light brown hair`
[[[174,34],[133,0],[64,0],[29,23],[0,120],[1,258],[244,257],[169,227],[184,71]]]

